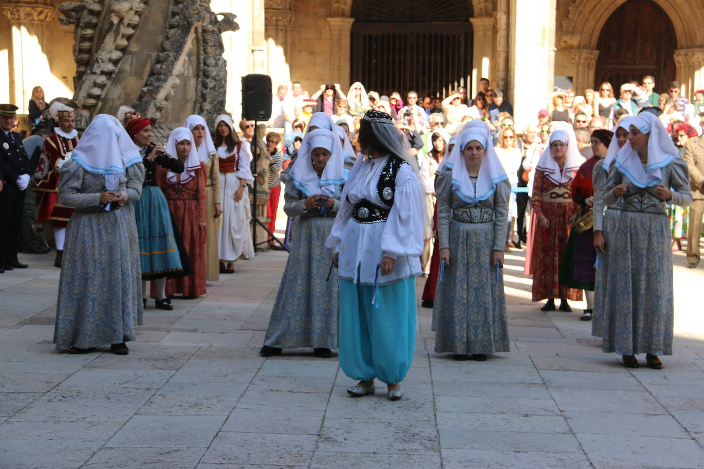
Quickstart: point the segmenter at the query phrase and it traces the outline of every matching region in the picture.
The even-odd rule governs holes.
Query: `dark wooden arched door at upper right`
[[[629,0],[611,14],[599,34],[596,86],[610,82],[619,87],[645,75],[655,77],[655,89],[667,88],[675,77],[677,49],[672,21],[650,0]]]

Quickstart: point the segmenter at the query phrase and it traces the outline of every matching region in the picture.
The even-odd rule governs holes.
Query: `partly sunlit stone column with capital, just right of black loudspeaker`
[[[265,36],[267,52],[267,74],[271,77],[272,91],[276,93],[279,84],[290,86],[289,70],[289,30],[294,14],[287,9],[269,9],[265,15]]]

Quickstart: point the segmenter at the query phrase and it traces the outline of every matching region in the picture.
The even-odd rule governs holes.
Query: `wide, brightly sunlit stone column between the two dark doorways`
[[[509,98],[517,129],[536,122],[553,91],[555,76],[555,0],[511,0]]]

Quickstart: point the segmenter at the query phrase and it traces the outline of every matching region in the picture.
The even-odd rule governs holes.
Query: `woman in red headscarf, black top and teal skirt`
[[[139,233],[139,258],[142,267],[142,302],[146,307],[149,297],[149,281],[156,284],[154,306],[171,310],[170,300],[166,297],[166,277],[182,276],[190,273],[188,256],[181,242],[178,231],[172,224],[172,216],[164,193],[156,184],[156,168],[162,167],[175,174],[184,171],[183,162],[165,153],[162,145],[151,143],[151,127],[154,120],[150,117],[137,117],[127,122],[127,133],[134,144],[140,148],[144,165],[144,186],[142,198],[134,202],[134,217]]]

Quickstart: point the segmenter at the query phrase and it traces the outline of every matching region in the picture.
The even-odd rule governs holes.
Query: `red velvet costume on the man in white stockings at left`
[[[66,153],[73,151],[78,144],[79,137],[65,139],[58,134],[51,134],[44,140],[42,157],[37,162],[37,174],[40,179],[34,179],[34,192],[40,193],[42,198],[37,210],[37,221],[53,220],[56,228],[65,228],[68,219],[73,214],[73,208],[64,207],[58,203],[58,170],[56,162],[64,159]]]

